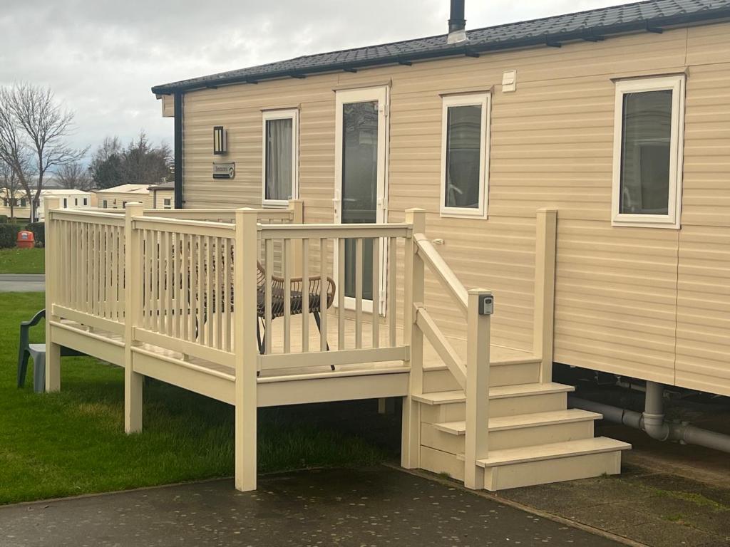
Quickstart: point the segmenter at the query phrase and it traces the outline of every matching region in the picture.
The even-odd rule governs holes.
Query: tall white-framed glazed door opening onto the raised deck
[[[337,91],[335,139],[335,219],[342,224],[378,224],[386,222],[388,89],[368,88]],[[363,245],[363,311],[372,312],[373,302],[385,313],[385,256],[381,245],[380,290],[373,294],[372,241]],[[347,240],[345,256],[345,307],[353,309],[356,290],[356,241]]]

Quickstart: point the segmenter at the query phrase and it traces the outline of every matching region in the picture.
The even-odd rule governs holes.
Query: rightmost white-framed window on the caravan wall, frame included
[[[685,76],[616,82],[612,225],[679,228]]]

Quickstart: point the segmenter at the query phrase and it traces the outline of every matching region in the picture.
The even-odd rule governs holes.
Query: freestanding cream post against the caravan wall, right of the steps
[[[535,235],[535,317],[532,352],[540,360],[540,381],[553,379],[553,322],[557,209],[538,209]]]

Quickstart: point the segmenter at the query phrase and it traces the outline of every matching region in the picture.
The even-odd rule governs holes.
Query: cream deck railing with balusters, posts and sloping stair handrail
[[[391,361],[410,367],[402,462],[417,468],[420,414],[414,396],[423,394],[424,338],[464,389],[465,483],[483,485],[476,462],[488,456],[490,315],[480,310],[480,303],[491,292],[467,291],[459,282],[426,238],[422,210],[408,211],[404,223],[380,225],[305,225],[299,202],[286,210],[235,211],[144,210],[128,203],[120,214],[69,212],[49,200],[46,210],[47,311],[54,321],[69,319],[123,336],[125,362],[135,352],[147,351],[142,347],[147,344],[177,354],[180,366],[198,366],[195,361],[203,360],[233,372],[239,489],[255,488],[256,378],[262,371],[283,368]],[[553,237],[553,254],[550,249],[543,253],[541,276],[554,257],[554,214],[552,218],[547,229],[545,219],[539,222],[546,241]],[[346,252],[354,270],[348,295]],[[381,257],[387,258],[386,268]],[[365,276],[368,258],[372,271]],[[399,264],[404,265],[401,276]],[[426,309],[426,267],[464,312],[466,362]],[[381,308],[383,276],[388,290]],[[299,289],[293,284],[296,278],[302,280]],[[371,287],[365,286],[367,278]],[[396,298],[399,282],[402,300]],[[550,287],[547,282],[540,286],[542,298]],[[365,311],[367,292],[372,313]],[[328,313],[330,300],[334,306]],[[550,320],[547,307],[536,310],[545,323]],[[315,313],[318,336],[310,326]],[[275,329],[282,333],[280,346],[273,343]],[[261,347],[257,330],[265,333]],[[540,338],[538,343],[547,360],[548,341]],[[128,432],[141,428],[140,379],[126,367]],[[49,381],[54,389],[58,379]]]

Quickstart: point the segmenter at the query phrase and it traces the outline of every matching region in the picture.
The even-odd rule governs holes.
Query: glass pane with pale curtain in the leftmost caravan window
[[[293,120],[266,120],[266,199],[288,200],[292,189]]]

